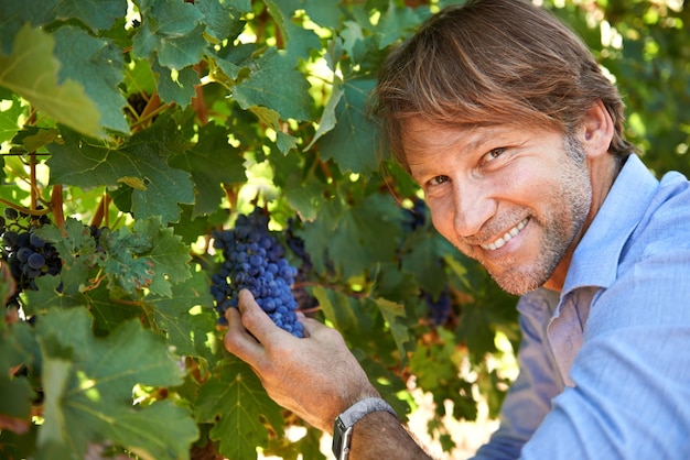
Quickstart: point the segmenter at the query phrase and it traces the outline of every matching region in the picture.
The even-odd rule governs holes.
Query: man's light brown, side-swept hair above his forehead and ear
[[[371,96],[384,142],[405,166],[401,134],[410,117],[567,134],[599,100],[615,129],[608,151],[634,150],[623,135],[623,100],[592,53],[549,12],[521,0],[471,0],[431,17],[387,57]]]

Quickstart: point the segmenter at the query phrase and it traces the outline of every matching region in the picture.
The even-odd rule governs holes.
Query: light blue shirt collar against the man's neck
[[[573,253],[562,294],[580,286],[608,287],[616,280],[623,245],[658,185],[642,160],[630,154]]]

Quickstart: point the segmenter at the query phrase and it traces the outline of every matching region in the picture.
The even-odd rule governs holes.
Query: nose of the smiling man
[[[476,236],[496,212],[496,200],[483,180],[465,178],[455,180],[453,185],[455,233],[463,238]]]

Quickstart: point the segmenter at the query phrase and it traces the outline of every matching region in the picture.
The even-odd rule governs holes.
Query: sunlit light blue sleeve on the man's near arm
[[[554,398],[524,460],[690,458],[690,249],[681,243],[624,267],[594,298],[574,387]]]

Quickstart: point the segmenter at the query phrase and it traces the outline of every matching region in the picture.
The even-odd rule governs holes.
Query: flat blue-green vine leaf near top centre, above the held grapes
[[[310,120],[313,100],[309,88],[293,61],[283,52],[269,48],[252,63],[249,77],[235,87],[233,95],[242,109],[262,106],[283,119]]]

